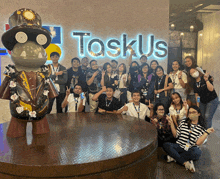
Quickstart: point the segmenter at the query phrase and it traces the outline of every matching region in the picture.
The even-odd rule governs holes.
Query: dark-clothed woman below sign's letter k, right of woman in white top
[[[138,74],[139,74],[139,64],[136,61],[133,61],[129,68],[128,73],[128,101],[132,102],[131,93],[134,90],[138,89]]]

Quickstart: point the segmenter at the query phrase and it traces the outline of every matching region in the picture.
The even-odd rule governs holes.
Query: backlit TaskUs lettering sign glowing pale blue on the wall
[[[156,59],[167,57],[168,46],[163,40],[158,40],[152,34],[147,37],[137,35],[136,39],[129,39],[127,34],[122,34],[121,39],[110,38],[105,42],[100,38],[92,38],[90,32],[73,32],[72,37],[78,41],[78,55],[87,54],[93,58],[126,58],[126,53],[134,50],[134,56],[146,55]]]

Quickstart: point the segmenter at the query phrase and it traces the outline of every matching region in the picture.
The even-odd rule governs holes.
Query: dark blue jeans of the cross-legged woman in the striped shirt
[[[188,151],[185,151],[177,143],[166,142],[163,144],[165,152],[174,158],[178,163],[184,164],[186,161],[198,160],[202,154],[202,151],[198,147],[191,147]]]

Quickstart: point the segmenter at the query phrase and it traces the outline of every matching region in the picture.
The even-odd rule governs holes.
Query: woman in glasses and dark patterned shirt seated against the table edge
[[[175,142],[162,103],[157,103],[154,106],[154,116],[151,118],[151,123],[157,128],[158,147],[162,147],[164,142]]]

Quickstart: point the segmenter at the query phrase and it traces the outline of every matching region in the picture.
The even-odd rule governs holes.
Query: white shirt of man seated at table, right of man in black
[[[140,103],[140,106],[139,105],[134,106],[133,102],[131,102],[131,103],[127,103],[126,106],[128,107],[128,110],[123,111],[122,114],[126,114],[128,116],[133,116],[133,117],[138,118],[137,111],[140,111],[139,118],[142,120],[145,120],[145,116],[148,116],[148,117],[150,116],[149,108],[147,107],[147,105],[143,103]]]

